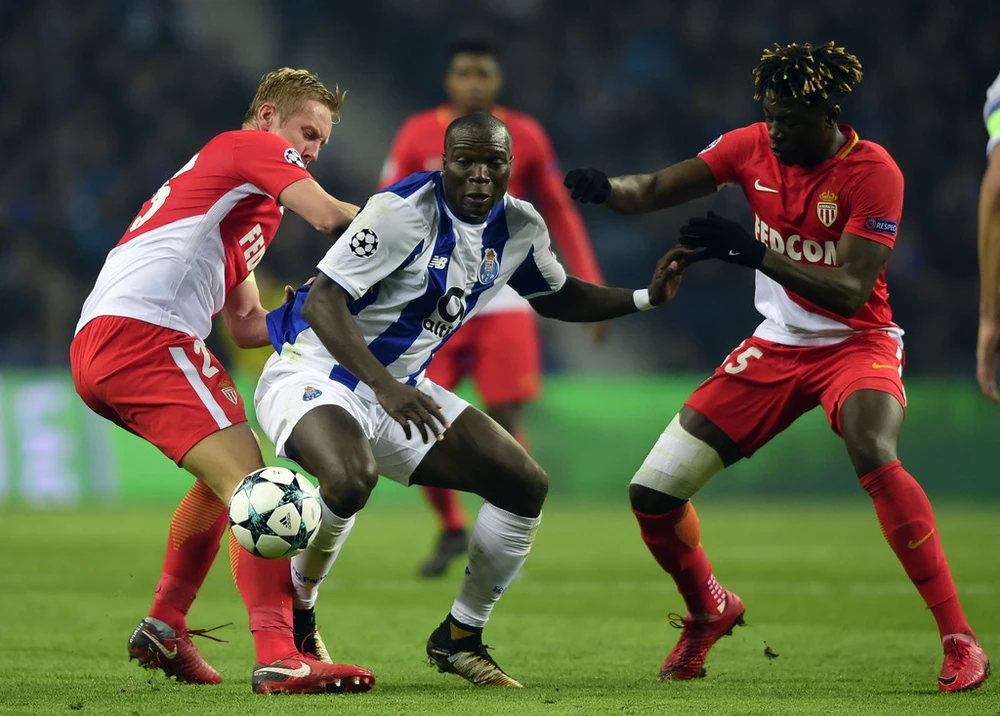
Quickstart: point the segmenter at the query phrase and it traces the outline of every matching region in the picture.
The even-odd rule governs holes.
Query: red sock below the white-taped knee
[[[642,541],[657,563],[674,578],[688,612],[718,615],[726,594],[715,581],[712,565],[701,546],[701,525],[694,505],[685,502],[663,515],[646,515],[635,509],[632,512],[639,521]]]

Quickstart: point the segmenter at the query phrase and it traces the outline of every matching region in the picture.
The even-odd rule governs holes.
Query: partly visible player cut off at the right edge
[[[997,357],[1000,353],[1000,75],[986,90],[983,121],[990,139],[986,171],[979,187],[979,342],[976,378],[983,395],[1000,403]]]

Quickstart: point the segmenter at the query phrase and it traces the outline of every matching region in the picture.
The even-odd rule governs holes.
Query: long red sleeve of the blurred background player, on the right
[[[525,162],[528,191],[545,217],[560,258],[574,276],[591,283],[603,284],[604,278],[590,245],[587,228],[579,210],[569,198],[569,192],[563,186],[562,172],[559,171],[548,135],[541,125],[531,119],[523,122],[523,129],[523,136],[529,139],[528,146],[523,147],[523,153],[514,161],[523,159]],[[518,149],[514,148],[515,155],[518,154]]]

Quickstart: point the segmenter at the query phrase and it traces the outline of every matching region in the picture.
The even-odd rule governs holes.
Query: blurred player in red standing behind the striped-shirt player
[[[415,114],[403,123],[389,150],[379,188],[414,172],[439,169],[444,132],[451,121],[470,112],[490,112],[510,128],[517,147],[511,195],[530,199],[538,206],[570,273],[601,283],[583,220],[563,189],[552,142],[531,117],[496,106],[502,85],[497,53],[491,45],[471,40],[454,44],[444,78],[448,104]],[[595,324],[590,330],[601,342],[607,325]],[[505,288],[474,320],[463,325],[428,369],[431,380],[447,390],[453,390],[466,375],[472,376],[490,417],[527,445],[522,409],[538,398],[541,353],[534,312],[512,289]],[[454,492],[424,488],[424,494],[440,518],[441,536],[420,573],[436,577],[444,574],[452,559],[465,554],[465,515]]]

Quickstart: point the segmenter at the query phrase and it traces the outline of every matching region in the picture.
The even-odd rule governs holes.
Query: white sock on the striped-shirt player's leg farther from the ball
[[[486,625],[493,605],[524,564],[541,521],[541,515],[521,517],[483,504],[469,537],[465,580],[451,607],[455,619],[471,627]]]

